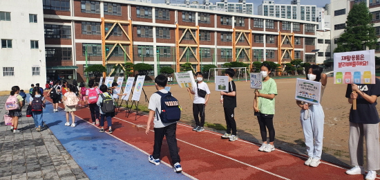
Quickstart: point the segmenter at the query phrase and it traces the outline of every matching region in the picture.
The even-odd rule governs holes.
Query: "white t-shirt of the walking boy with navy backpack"
[[[168,93],[168,91],[165,89],[161,89],[160,92]],[[161,96],[158,95],[158,93],[152,94],[151,98],[149,99],[148,109],[151,109],[152,111],[156,111],[156,109],[158,109],[159,112],[161,111]],[[157,117],[157,111],[156,111],[153,123],[154,123],[154,128],[161,128],[161,127],[167,127],[168,125],[171,125],[171,124],[177,123],[177,122],[162,123],[162,121],[160,120],[160,116]]]

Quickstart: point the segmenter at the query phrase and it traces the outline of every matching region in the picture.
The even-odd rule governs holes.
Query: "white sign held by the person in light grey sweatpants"
[[[319,105],[321,103],[321,82],[297,78],[296,100]]]

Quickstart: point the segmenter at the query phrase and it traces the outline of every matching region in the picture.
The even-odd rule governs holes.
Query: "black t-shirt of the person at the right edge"
[[[359,89],[363,93],[369,96],[380,96],[380,80],[376,78],[376,84],[357,84]],[[345,92],[345,97],[350,98],[352,93],[351,84],[347,85],[347,91]],[[360,124],[377,124],[380,122],[379,114],[376,109],[377,101],[370,104],[360,95],[357,98],[357,110],[350,110],[350,122],[360,123]]]

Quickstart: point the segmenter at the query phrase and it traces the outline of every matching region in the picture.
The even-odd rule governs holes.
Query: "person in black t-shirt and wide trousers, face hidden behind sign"
[[[351,165],[347,174],[365,174],[363,164],[363,138],[365,138],[366,162],[368,173],[365,179],[375,179],[376,170],[380,169],[379,114],[377,97],[380,96],[380,80],[376,84],[348,84],[345,97],[352,104],[357,100],[357,110],[350,110],[350,149]],[[353,93],[355,91],[356,93]]]

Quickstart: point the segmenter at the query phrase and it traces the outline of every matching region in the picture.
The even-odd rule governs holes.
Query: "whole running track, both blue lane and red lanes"
[[[221,134],[207,130],[193,132],[192,127],[182,123],[177,125],[183,169],[182,174],[178,174],[171,169],[165,140],[162,144],[162,163],[156,166],[147,161],[146,154],[153,152],[154,140],[153,130],[149,135],[145,134],[147,116],[137,115],[135,120],[135,114],[126,118],[125,111],[121,111],[113,118],[113,134],[102,134],[98,132],[98,127],[88,123],[91,115],[89,109],[84,107],[78,107],[75,111],[79,125],[65,127],[63,105],[59,106],[59,112],[53,114],[52,105],[47,105],[44,114],[59,122],[48,120],[46,124],[51,123],[49,128],[53,134],[90,179],[99,179],[100,176],[104,179],[108,175],[111,175],[110,179],[364,179],[361,174],[345,174],[347,167],[323,161],[318,168],[312,168],[303,165],[307,159],[303,155],[277,149],[269,153],[258,152],[257,144],[243,140],[229,142],[228,139],[221,139]],[[71,138],[70,134],[77,133],[79,129],[82,137]],[[75,143],[68,143],[70,141]],[[88,143],[92,146],[87,147]],[[88,151],[94,148],[106,150],[108,147],[111,154],[101,152],[99,156]],[[129,153],[125,155],[124,152]],[[102,169],[108,166],[111,168]]]

